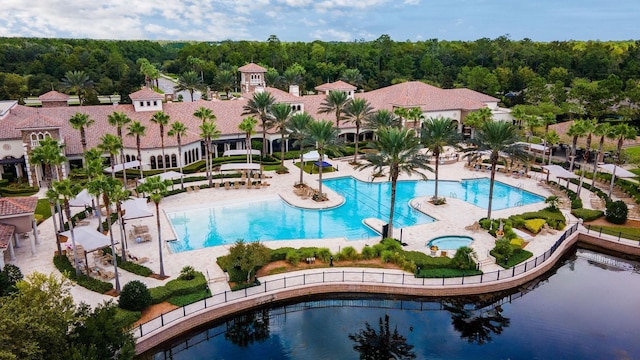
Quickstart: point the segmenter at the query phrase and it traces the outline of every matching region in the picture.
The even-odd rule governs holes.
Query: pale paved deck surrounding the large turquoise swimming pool
[[[348,164],[349,160],[351,160],[351,158],[345,160],[332,160],[331,162],[337,166],[338,171],[325,173],[323,174],[323,178],[329,179],[334,177],[353,176],[363,181],[371,181],[370,169],[366,169],[363,171],[354,170],[353,167]],[[168,280],[175,279],[179,275],[180,269],[182,269],[184,266],[190,265],[193,266],[196,270],[202,271],[205,276],[210,279],[209,287],[211,288],[211,291],[213,293],[229,290],[225,273],[216,265],[215,259],[219,256],[226,255],[228,253],[228,247],[231,245],[216,246],[181,253],[172,253],[167,246],[166,241],[173,240],[176,238],[176,236],[173,233],[171,225],[166,218],[165,211],[171,212],[172,209],[179,208],[204,208],[213,204],[224,204],[237,201],[259,201],[261,199],[273,198],[274,196],[279,196],[283,200],[294,206],[311,209],[339,206],[344,201],[344,199],[340,195],[326,186],[323,186],[323,192],[328,195],[328,201],[316,202],[310,198],[303,199],[297,196],[293,192],[293,186],[299,181],[299,170],[295,165],[292,164],[292,161],[286,161],[285,164],[290,169],[290,173],[279,175],[275,174],[274,172],[268,172],[267,175],[270,176],[270,178],[267,178],[266,181],[270,185],[267,187],[263,187],[260,189],[240,188],[237,190],[227,190],[224,188],[202,189],[197,192],[194,191],[190,193],[183,193],[163,199],[160,204],[160,221],[162,238],[164,240],[162,243],[164,269],[165,274],[168,275],[169,278],[167,280],[161,281],[149,277],[140,277],[127,271],[119,270],[121,286],[124,286],[127,282],[132,280],[142,281],[149,287],[160,286],[166,283],[166,281]],[[488,172],[478,172],[465,168],[464,161],[442,165],[440,166],[439,170],[440,180],[458,181],[461,179],[472,179],[490,176],[490,173]],[[429,178],[429,181],[434,180],[433,173],[426,174]],[[317,178],[317,175],[309,175],[306,173],[304,174],[304,182],[308,186],[315,189],[318,188]],[[401,175],[401,179],[418,180],[420,178],[418,176],[407,177],[406,175]],[[513,177],[508,177],[503,173],[499,173],[496,174],[496,180],[512,186],[522,187],[525,190],[531,191],[543,197],[551,195],[551,192],[547,188],[538,185],[538,179],[536,179],[535,177],[516,179]],[[551,180],[557,179],[552,177]],[[373,181],[382,182],[386,181],[386,178],[377,178]],[[202,181],[197,183],[189,183],[188,185],[194,186],[205,183],[207,182]],[[175,186],[179,187],[180,185]],[[439,194],[439,196],[446,195],[447,194]],[[588,206],[589,204],[589,195],[590,193],[587,191],[583,191],[583,193],[581,194],[585,206]],[[418,210],[434,217],[437,221],[434,223],[404,228],[402,230],[402,241],[407,243],[405,249],[429,253],[429,249],[427,249],[426,243],[435,237],[443,235],[467,235],[474,238],[474,242],[471,244],[471,247],[473,247],[478,254],[479,261],[482,264],[482,270],[485,272],[498,270],[499,267],[495,264],[491,264],[491,261],[489,259],[489,250],[493,248],[495,239],[486,231],[473,231],[465,229],[465,227],[472,225],[477,219],[486,216],[487,211],[485,209],[481,209],[455,198],[447,198],[447,203],[445,205],[434,206],[427,201],[429,197],[430,196],[416,198],[412,200],[412,204]],[[148,209],[155,214],[155,206],[153,204],[148,204],[147,206]],[[541,208],[544,208],[545,206],[546,205],[541,202],[504,210],[496,210],[492,212],[492,217],[506,218],[512,214],[539,210]],[[569,210],[563,210],[563,213],[565,213],[565,216],[568,218],[570,223],[575,223],[577,221],[577,219],[569,214]],[[386,219],[380,219],[380,222],[385,220]],[[87,226],[97,227],[97,218],[91,218],[89,222],[90,224]],[[153,237],[153,241],[136,243],[135,241],[133,241],[133,239],[128,239],[127,246],[129,250],[135,256],[148,257],[149,262],[145,263],[144,265],[151,268],[156,273],[159,272],[159,250],[157,241],[158,235],[156,230],[155,216],[127,221],[127,232],[129,231],[129,229],[131,229],[131,225],[147,225]],[[19,266],[23,274],[25,275],[34,271],[38,271],[41,273],[59,274],[52,262],[53,254],[56,251],[52,219],[50,218],[40,224],[40,226],[38,226],[38,231],[40,243],[36,245],[35,255],[31,255],[31,251],[27,242],[23,241],[22,246],[16,249],[16,260],[11,261],[9,259],[7,251],[5,252],[5,261],[7,263],[13,263]],[[546,250],[548,250],[551,244],[553,244],[557,240],[559,234],[560,233],[558,232],[556,234],[537,235],[527,244],[526,249],[531,251],[534,256],[542,254]],[[399,229],[394,229],[394,236],[396,238],[400,237]],[[117,240],[120,239],[118,231],[114,232],[114,238]],[[353,246],[354,248],[360,250],[365,245],[376,244],[377,242],[379,242],[379,240],[380,237],[352,241],[348,241],[344,238],[334,238],[317,240],[268,241],[264,242],[264,244],[271,248],[284,246],[294,248],[302,246],[318,246],[327,247],[331,249],[332,252],[338,252],[345,246]],[[449,252],[449,255],[451,255],[451,252]],[[91,263],[92,256],[89,255],[89,264]],[[113,270],[113,268],[111,268],[110,270]],[[114,280],[111,280],[111,282],[113,283]],[[92,306],[100,304],[105,300],[114,299],[111,296],[97,294],[95,292],[75,285],[72,287],[71,293],[77,302],[82,301]]]

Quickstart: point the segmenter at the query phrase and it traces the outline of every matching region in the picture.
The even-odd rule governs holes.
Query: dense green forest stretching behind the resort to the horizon
[[[213,89],[233,91],[237,68],[255,62],[269,69],[271,86],[313,90],[344,79],[365,91],[408,80],[443,88],[467,87],[503,99],[507,106],[555,103],[567,96],[586,115],[605,116],[626,106],[635,118],[640,102],[640,41],[158,42],[0,38],[0,98],[22,99],[62,91],[68,71],[84,71],[99,94],[125,95],[145,81],[139,59],[160,72],[196,72]],[[526,89],[526,91],[523,91]],[[570,93],[572,91],[572,93]]]

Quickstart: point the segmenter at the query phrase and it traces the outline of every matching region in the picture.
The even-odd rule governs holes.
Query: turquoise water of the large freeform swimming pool
[[[344,196],[343,205],[328,210],[305,210],[274,198],[210,208],[167,211],[177,240],[169,246],[174,252],[245,241],[289,239],[326,239],[345,237],[349,240],[379,236],[363,224],[366,218],[389,218],[391,185],[369,183],[354,178],[329,179],[323,182]],[[456,197],[480,207],[487,207],[488,179],[440,181],[439,194]],[[401,181],[397,184],[394,227],[426,224],[434,219],[409,206],[415,197],[432,195],[433,181]],[[496,182],[493,209],[504,209],[544,201],[525,190]]]

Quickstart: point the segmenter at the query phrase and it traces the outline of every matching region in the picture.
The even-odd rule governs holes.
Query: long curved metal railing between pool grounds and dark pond
[[[452,286],[465,284],[482,284],[504,280],[521,275],[543,264],[556,252],[558,247],[575,231],[578,224],[574,224],[567,229],[549,250],[536,258],[516,265],[512,268],[483,273],[473,276],[462,276],[456,278],[417,278],[414,275],[398,272],[365,270],[338,270],[331,269],[322,272],[309,272],[293,276],[284,276],[279,279],[268,280],[257,286],[248,287],[237,291],[224,291],[213,294],[211,297],[195,303],[184,305],[175,310],[161,314],[160,316],[138,325],[133,329],[134,337],[140,338],[148,335],[162,327],[179,321],[186,316],[201,312],[205,309],[222,306],[227,303],[249,299],[287,288],[304,287],[307,285],[332,284],[332,283],[362,283],[362,284],[391,284],[404,286]]]

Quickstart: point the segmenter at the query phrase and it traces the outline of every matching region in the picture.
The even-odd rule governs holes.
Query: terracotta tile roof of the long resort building
[[[286,91],[274,88],[267,88],[277,102],[282,103],[302,103],[304,110],[316,119],[327,119],[335,122],[335,114],[318,114],[320,104],[324,101],[325,95],[305,95],[296,97]],[[444,110],[477,110],[485,106],[486,101],[491,97],[477,93],[475,91],[460,91],[461,89],[443,90],[421,82],[405,82],[386,88],[374,90],[367,93],[356,93],[356,97],[367,99],[376,110],[393,110],[394,106],[413,107],[418,106],[425,112]],[[157,98],[162,98],[161,94],[150,89],[142,89],[131,96],[136,98],[136,94],[148,94]],[[244,134],[238,130],[238,125],[247,115],[242,115],[243,107],[248,98],[241,97],[235,100],[225,101],[204,101],[197,102],[174,102],[164,103],[163,110],[170,116],[170,121],[180,121],[187,128],[187,135],[182,138],[183,144],[200,141],[200,120],[193,116],[193,113],[200,107],[211,109],[216,115],[216,124],[225,138],[244,138]],[[475,98],[473,98],[475,97]],[[249,97],[250,98],[250,97]],[[115,127],[109,125],[107,117],[114,111],[123,112],[133,121],[139,121],[146,126],[146,135],[142,142],[143,149],[158,149],[161,147],[159,127],[150,121],[154,112],[136,112],[133,105],[96,105],[83,107],[52,107],[52,108],[29,108],[23,105],[16,105],[11,112],[0,119],[0,140],[21,139],[19,129],[31,129],[38,126],[59,127],[60,136],[64,139],[67,155],[77,155],[82,153],[80,143],[80,131],[73,129],[69,124],[69,119],[77,112],[89,115],[95,122],[85,129],[87,136],[87,146],[94,147],[100,143],[100,138],[105,134],[116,134]],[[353,124],[341,121],[341,128],[351,128]],[[165,129],[165,146],[177,146],[175,137],[167,136],[169,129]],[[260,132],[260,126],[256,128]],[[126,134],[126,130],[123,129]],[[123,144],[127,149],[136,148],[135,138],[123,136]]]

